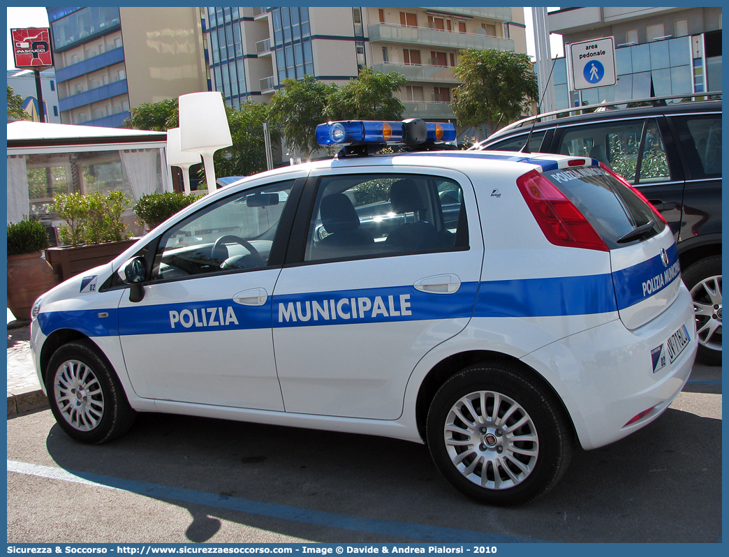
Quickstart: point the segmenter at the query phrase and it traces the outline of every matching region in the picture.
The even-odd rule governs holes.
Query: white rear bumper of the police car
[[[654,365],[652,351],[686,326],[690,342],[674,362]],[[635,330],[619,319],[551,343],[522,359],[555,386],[582,448],[630,435],[663,413],[686,383],[698,348],[693,303],[681,283],[666,311]],[[650,411],[625,425],[644,410]]]

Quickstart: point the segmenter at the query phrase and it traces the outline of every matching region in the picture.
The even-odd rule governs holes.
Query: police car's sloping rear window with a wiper
[[[547,171],[544,175],[588,219],[609,249],[644,241],[666,227],[634,190],[617,181],[603,168],[569,168]],[[645,233],[620,241],[651,220],[655,224]]]

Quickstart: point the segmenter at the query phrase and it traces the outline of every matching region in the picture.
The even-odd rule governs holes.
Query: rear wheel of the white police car
[[[525,371],[515,362],[467,367],[443,383],[430,405],[426,438],[435,465],[479,502],[536,499],[555,486],[572,458],[574,434],[564,408]]]

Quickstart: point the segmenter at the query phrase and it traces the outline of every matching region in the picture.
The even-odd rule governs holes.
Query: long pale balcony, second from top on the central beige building
[[[514,50],[514,42],[511,39],[501,39],[486,34],[457,33],[456,31],[440,31],[440,29],[426,27],[403,27],[387,23],[376,23],[369,26],[367,31],[370,35],[370,43],[383,41],[456,49]]]

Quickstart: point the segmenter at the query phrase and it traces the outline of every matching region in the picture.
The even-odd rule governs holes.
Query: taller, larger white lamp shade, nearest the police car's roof
[[[181,151],[211,153],[233,145],[219,91],[181,95],[179,117]]]

